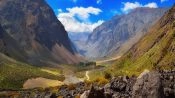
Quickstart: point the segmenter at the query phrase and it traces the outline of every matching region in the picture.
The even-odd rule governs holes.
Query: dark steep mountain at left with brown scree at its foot
[[[44,0],[1,0],[2,53],[33,65],[80,61],[61,22]],[[5,49],[4,49],[5,48]]]

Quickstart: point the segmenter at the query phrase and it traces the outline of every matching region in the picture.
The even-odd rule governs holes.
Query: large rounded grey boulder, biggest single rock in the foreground
[[[133,86],[133,98],[161,98],[161,79],[158,72],[148,72]]]

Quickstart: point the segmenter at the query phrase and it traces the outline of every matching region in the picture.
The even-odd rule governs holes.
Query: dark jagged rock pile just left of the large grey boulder
[[[104,87],[92,86],[89,91],[85,91],[81,98],[130,98],[132,87],[136,77],[113,78]]]

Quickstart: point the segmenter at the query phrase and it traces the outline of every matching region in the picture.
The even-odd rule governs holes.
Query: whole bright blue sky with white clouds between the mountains
[[[116,14],[137,7],[171,7],[174,0],[46,0],[69,33],[91,33]]]

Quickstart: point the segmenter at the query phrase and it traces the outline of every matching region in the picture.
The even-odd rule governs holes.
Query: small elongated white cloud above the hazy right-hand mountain
[[[129,10],[132,10],[132,9],[135,9],[135,8],[138,8],[138,7],[149,7],[149,8],[157,8],[157,4],[155,2],[151,2],[151,3],[148,3],[148,4],[140,4],[139,2],[123,2],[124,4],[124,7],[122,8],[122,11],[123,12],[128,12]]]

